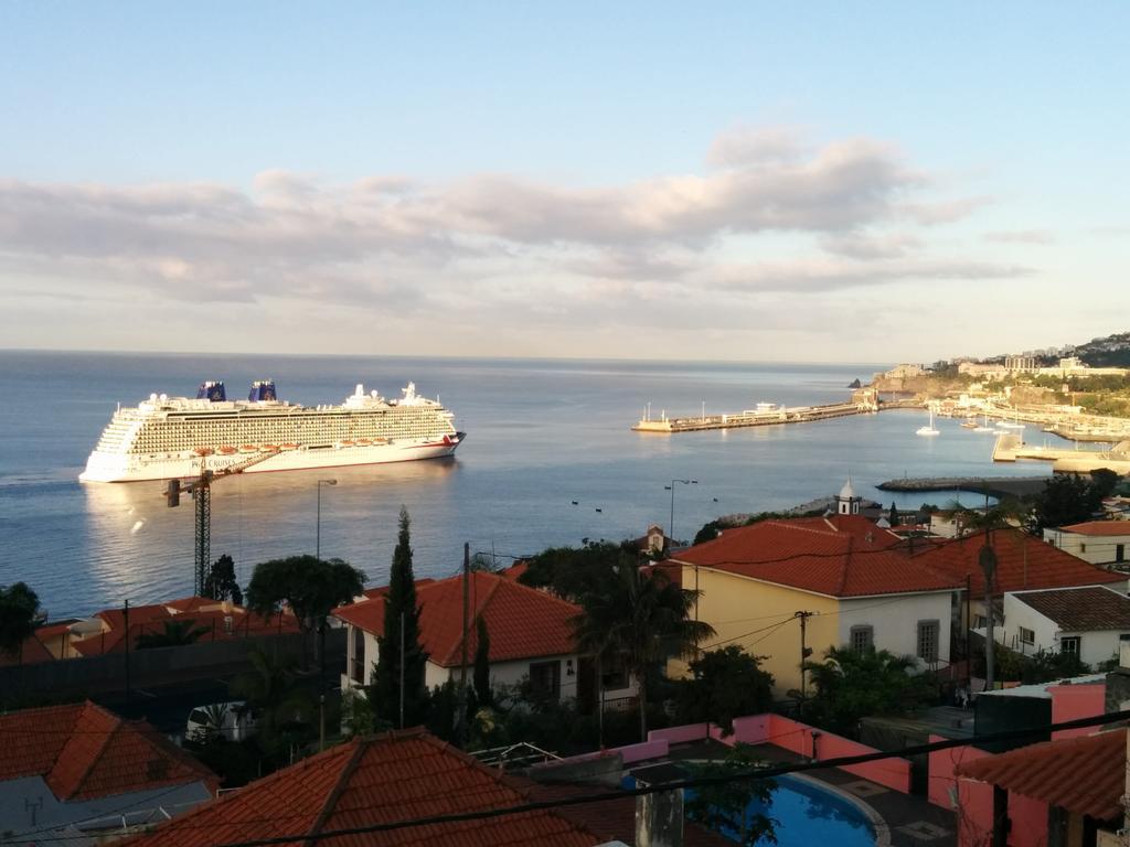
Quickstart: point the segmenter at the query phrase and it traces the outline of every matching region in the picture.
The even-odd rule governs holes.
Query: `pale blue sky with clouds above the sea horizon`
[[[1130,5],[0,0],[0,348],[1130,329]]]

